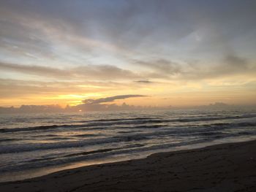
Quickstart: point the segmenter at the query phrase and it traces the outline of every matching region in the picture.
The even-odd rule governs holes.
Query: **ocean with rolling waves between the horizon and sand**
[[[256,139],[256,110],[0,115],[0,182]]]

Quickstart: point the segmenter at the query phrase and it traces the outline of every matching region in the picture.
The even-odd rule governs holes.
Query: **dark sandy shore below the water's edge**
[[[256,141],[69,169],[0,191],[256,191]]]

